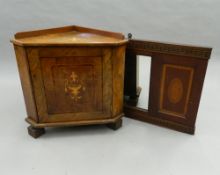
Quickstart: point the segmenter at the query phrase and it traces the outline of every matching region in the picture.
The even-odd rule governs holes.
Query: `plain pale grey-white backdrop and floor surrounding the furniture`
[[[219,0],[0,0],[0,174],[219,175]],[[12,45],[18,31],[82,25],[134,38],[211,46],[196,135],[124,118],[27,135]]]

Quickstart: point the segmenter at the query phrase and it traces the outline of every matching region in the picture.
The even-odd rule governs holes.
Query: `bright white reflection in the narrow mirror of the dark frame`
[[[137,56],[137,86],[141,88],[137,107],[148,109],[151,57]]]

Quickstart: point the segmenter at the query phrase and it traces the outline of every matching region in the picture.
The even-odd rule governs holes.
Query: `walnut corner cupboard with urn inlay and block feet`
[[[70,26],[17,33],[12,42],[31,136],[45,127],[121,126],[122,34]]]

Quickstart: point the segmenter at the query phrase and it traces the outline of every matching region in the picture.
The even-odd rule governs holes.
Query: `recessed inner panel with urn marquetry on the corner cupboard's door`
[[[48,114],[101,112],[102,58],[40,58]]]

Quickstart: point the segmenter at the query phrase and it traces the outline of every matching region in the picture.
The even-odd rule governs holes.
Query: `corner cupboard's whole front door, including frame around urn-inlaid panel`
[[[100,48],[30,48],[40,122],[110,118],[110,55]]]

